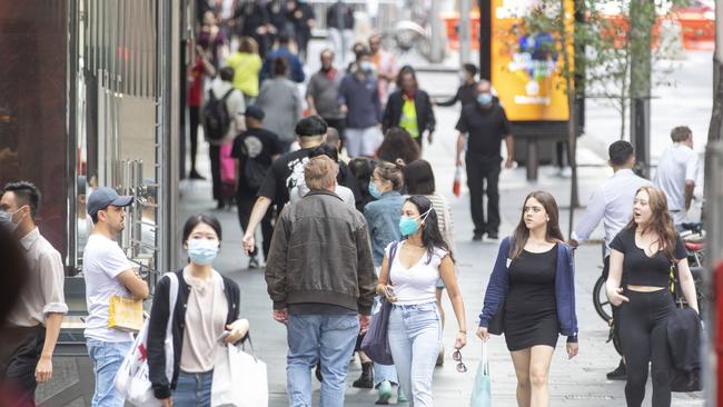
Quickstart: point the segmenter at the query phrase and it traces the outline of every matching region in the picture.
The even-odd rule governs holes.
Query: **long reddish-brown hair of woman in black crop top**
[[[676,232],[671,212],[667,211],[665,193],[655,187],[641,187],[635,192],[635,196],[637,197],[642,191],[647,192],[647,205],[651,207],[652,212],[651,220],[643,228],[642,232],[653,231],[657,235],[655,242],[657,242],[658,249],[662,249],[668,259],[680,260],[675,258]],[[637,229],[637,224],[634,218],[625,226],[625,229]]]

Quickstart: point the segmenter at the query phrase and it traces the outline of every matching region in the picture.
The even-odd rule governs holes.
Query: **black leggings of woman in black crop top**
[[[625,354],[628,407],[638,407],[645,398],[647,366],[652,363],[653,406],[670,407],[673,363],[667,347],[666,320],[675,310],[667,289],[640,292],[625,289],[630,302],[620,310],[621,345]]]

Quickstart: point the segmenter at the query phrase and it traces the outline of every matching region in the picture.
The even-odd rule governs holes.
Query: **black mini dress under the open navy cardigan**
[[[559,324],[555,299],[557,245],[545,252],[523,252],[508,267],[509,291],[505,299],[507,349],[557,345]]]

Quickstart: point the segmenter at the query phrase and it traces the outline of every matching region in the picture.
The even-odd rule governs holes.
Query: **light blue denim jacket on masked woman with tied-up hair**
[[[364,207],[364,217],[372,237],[374,264],[377,267],[382,266],[384,249],[387,245],[395,240],[402,240],[399,218],[403,205],[404,198],[399,192],[388,191]]]

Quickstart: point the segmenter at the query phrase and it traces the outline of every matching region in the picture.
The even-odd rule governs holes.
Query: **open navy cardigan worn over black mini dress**
[[[509,237],[502,240],[495,268],[489,276],[485,292],[484,307],[479,314],[479,326],[486,327],[497,314],[499,304],[507,297],[509,279]],[[577,341],[577,315],[575,314],[575,260],[572,249],[565,244],[557,245],[557,270],[555,272],[555,299],[557,302],[557,321],[559,332],[567,341]]]

